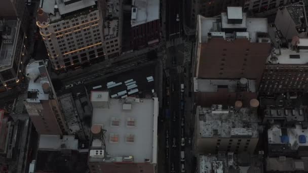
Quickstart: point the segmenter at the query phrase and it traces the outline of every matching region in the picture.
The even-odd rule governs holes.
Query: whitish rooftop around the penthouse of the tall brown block
[[[238,17],[236,15],[235,17]],[[197,19],[197,29],[198,29],[198,37],[200,43],[207,42],[209,36],[209,32],[216,32],[213,34],[218,34],[223,38],[234,38],[239,35],[241,38],[247,37],[250,42],[258,41],[258,33],[267,33],[267,19],[266,18],[248,18],[246,13],[243,13],[242,23],[240,24],[229,24],[227,13],[221,13],[219,17],[203,17],[198,15]],[[234,35],[230,33],[230,30],[241,29],[244,31],[236,32]],[[228,31],[227,31],[228,30]]]

